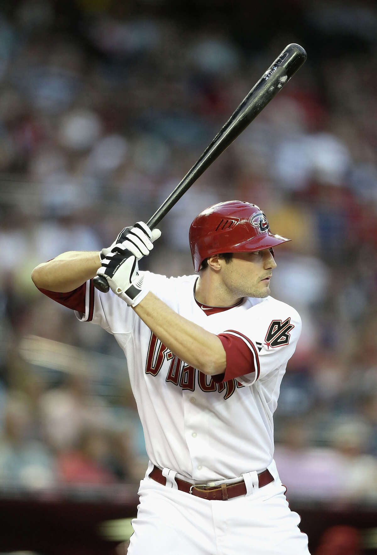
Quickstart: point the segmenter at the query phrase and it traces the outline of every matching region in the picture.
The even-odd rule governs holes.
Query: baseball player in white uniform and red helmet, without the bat
[[[273,248],[289,239],[254,204],[215,204],[190,227],[196,274],[167,278],[138,268],[159,236],[139,222],[101,253],[65,253],[32,274],[126,356],[150,459],[128,553],[307,555],[273,460],[273,412],[301,330],[297,311],[269,296]]]

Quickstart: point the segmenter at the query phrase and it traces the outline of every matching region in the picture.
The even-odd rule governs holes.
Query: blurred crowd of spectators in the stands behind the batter
[[[308,62],[166,216],[141,265],[191,274],[199,211],[231,199],[262,207],[272,231],[293,239],[276,249],[272,294],[303,320],[275,417],[282,481],[288,496],[376,502],[374,4],[292,3],[296,24],[273,29],[262,49],[220,12],[194,31],[159,2],[120,4],[0,8],[0,495],[144,474],[123,353],[40,294],[30,272],[149,219],[300,42]],[[328,37],[342,48],[325,48]]]

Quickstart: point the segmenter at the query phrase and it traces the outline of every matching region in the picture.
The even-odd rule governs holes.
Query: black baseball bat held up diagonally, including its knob
[[[240,133],[262,112],[270,100],[277,95],[292,75],[302,66],[307,59],[307,53],[299,44],[288,44],[283,52],[263,73],[248,95],[242,100],[225,125],[217,133],[215,139],[203,152],[198,161],[187,172],[185,177],[167,197],[160,208],[156,210],[147,226],[153,229],[169,212],[172,206],[184,195],[187,189],[202,175],[222,152],[235,140]],[[109,291],[109,284],[103,276],[95,276],[93,283],[103,292]]]

